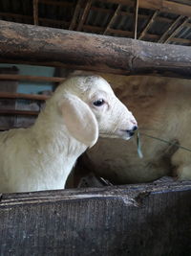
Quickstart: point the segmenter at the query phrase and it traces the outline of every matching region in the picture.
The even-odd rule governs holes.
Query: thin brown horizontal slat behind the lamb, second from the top
[[[0,99],[24,99],[24,100],[46,101],[49,98],[50,97],[47,95],[11,93],[11,92],[0,91]]]

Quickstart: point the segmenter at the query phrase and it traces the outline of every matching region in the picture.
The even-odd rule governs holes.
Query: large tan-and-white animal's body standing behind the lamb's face
[[[190,81],[148,76],[104,75],[117,97],[136,114],[143,158],[134,140],[100,138],[87,151],[91,170],[114,184],[152,182],[164,175],[191,180],[191,152],[144,136],[178,141],[191,149]],[[169,148],[171,150],[169,151]]]

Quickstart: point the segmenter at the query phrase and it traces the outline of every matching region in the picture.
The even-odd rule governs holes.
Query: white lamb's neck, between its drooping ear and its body
[[[50,155],[76,158],[87,146],[74,139],[64,125],[64,120],[47,106],[39,114],[32,127],[33,139],[40,151]]]

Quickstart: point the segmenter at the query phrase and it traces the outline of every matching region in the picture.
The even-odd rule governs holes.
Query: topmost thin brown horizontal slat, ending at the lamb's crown
[[[0,74],[0,81],[40,81],[40,82],[62,82],[64,78],[55,77],[36,77],[36,76],[24,76],[24,75],[11,75],[11,74]]]

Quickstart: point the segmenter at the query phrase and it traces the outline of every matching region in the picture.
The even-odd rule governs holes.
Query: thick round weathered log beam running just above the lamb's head
[[[123,75],[191,78],[189,47],[0,21],[0,59]]]

